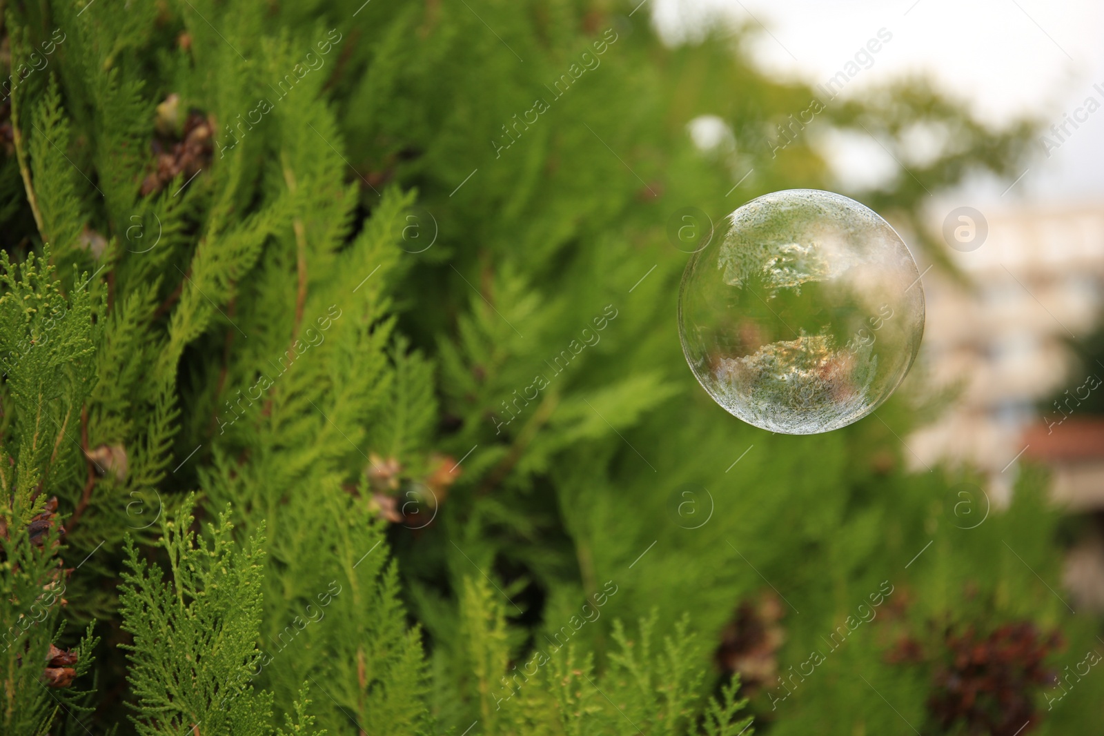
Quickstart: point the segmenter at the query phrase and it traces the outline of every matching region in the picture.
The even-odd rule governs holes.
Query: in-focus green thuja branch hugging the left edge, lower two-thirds
[[[7,429],[0,451],[0,730],[44,734],[59,715],[77,718],[84,692],[46,684],[51,647],[61,640],[67,570],[57,554],[56,502],[76,482],[74,426],[95,383],[91,299],[53,278],[46,248],[12,264],[0,254],[0,365]],[[87,279],[87,275],[85,275]],[[74,650],[73,676],[92,666],[92,629]]]

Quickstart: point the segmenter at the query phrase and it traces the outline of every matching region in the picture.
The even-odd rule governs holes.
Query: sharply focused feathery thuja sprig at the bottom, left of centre
[[[124,648],[138,700],[135,726],[142,735],[194,733],[200,726],[214,734],[270,734],[272,693],[254,692],[251,682],[261,660],[263,537],[235,548],[225,513],[211,525],[210,544],[197,541],[192,508],[189,497],[174,520],[161,523],[170,580],[127,541],[119,614],[134,637]],[[306,689],[299,702],[298,723],[287,717],[291,733],[306,733],[314,723],[305,713]]]

